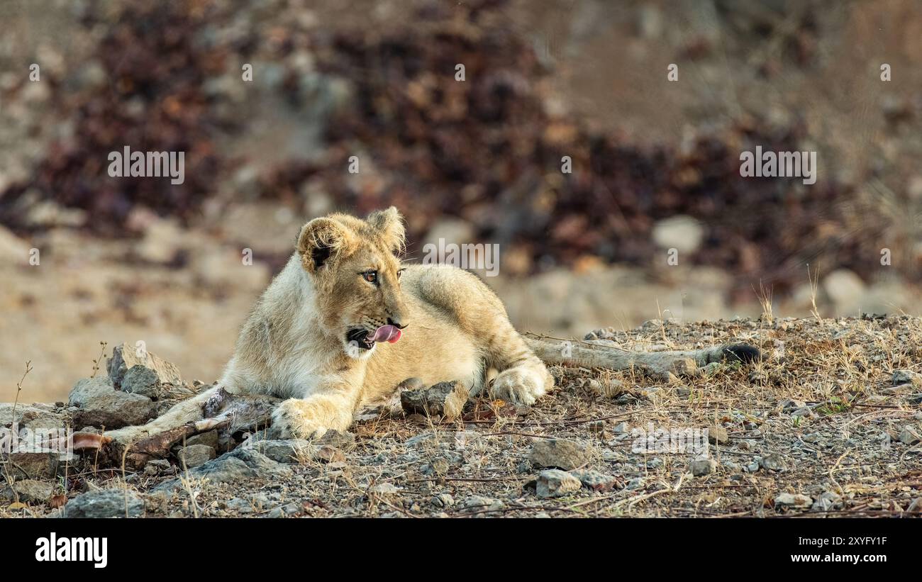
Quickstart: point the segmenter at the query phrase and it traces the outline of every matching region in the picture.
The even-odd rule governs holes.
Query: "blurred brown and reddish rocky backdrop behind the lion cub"
[[[217,379],[301,225],[390,204],[411,260],[499,244],[522,330],[917,315],[920,54],[916,0],[0,0],[0,402],[122,342]]]

